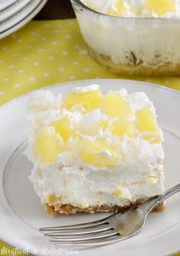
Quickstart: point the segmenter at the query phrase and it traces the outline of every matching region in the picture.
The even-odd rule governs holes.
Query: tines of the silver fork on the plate
[[[61,245],[98,245],[110,243],[112,239],[119,237],[107,218],[96,222],[82,223],[50,228],[40,228],[44,235],[50,237],[50,241]]]

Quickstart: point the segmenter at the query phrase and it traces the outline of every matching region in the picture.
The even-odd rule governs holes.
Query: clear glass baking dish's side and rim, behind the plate
[[[180,75],[180,19],[104,15],[71,0],[89,55],[116,74]]]

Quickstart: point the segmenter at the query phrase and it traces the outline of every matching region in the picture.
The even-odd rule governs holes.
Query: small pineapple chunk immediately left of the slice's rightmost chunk
[[[112,124],[112,133],[117,134],[121,139],[124,139],[125,134],[133,137],[134,131],[134,123],[127,120],[114,120]]]

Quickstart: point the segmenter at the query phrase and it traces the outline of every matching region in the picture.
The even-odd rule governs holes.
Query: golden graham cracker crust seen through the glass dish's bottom
[[[130,52],[130,55],[127,56],[129,64],[117,64],[111,60],[111,56],[101,54],[98,51],[95,51],[87,44],[88,54],[96,61],[98,64],[101,64],[103,67],[115,74],[123,75],[143,75],[143,76],[159,76],[159,75],[172,75],[180,76],[180,64],[176,67],[172,66],[171,62],[166,62],[164,64],[158,65],[149,65],[146,66],[143,64],[143,60],[137,61],[137,57],[133,54],[133,51]],[[159,56],[155,56],[157,59]]]

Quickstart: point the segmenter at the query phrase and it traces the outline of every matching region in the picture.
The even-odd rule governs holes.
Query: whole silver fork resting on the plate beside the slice
[[[127,212],[114,213],[95,222],[40,228],[40,231],[44,235],[50,236],[50,241],[56,245],[109,245],[136,235],[145,225],[149,212],[177,192],[180,192],[180,184],[167,190],[163,195],[156,195]]]

